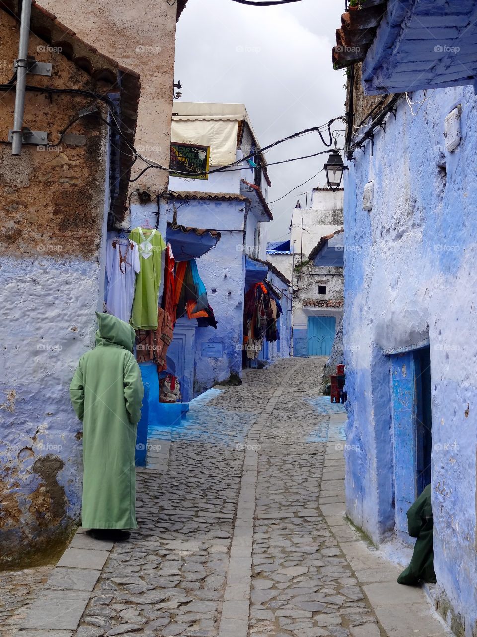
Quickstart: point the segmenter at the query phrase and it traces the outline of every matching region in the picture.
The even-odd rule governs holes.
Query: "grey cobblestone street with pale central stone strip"
[[[3,636],[408,637],[413,612],[420,637],[447,634],[343,517],[345,413],[317,393],[322,365],[286,359],[194,401],[149,440],[130,541],[77,533],[26,608],[25,578],[3,574]]]

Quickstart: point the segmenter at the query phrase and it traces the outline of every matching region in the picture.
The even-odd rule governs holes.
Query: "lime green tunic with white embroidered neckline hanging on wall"
[[[157,304],[165,241],[156,229],[135,228],[129,238],[138,245],[141,269],[137,275],[130,324],[134,329],[157,328]]]

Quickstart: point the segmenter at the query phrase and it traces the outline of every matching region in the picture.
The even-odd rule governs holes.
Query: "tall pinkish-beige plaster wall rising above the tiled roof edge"
[[[135,147],[169,166],[174,94],[177,3],[168,0],[42,0],[76,35],[141,75]],[[144,164],[137,162],[132,178]],[[168,173],[149,169],[139,182],[151,192],[167,190]]]

